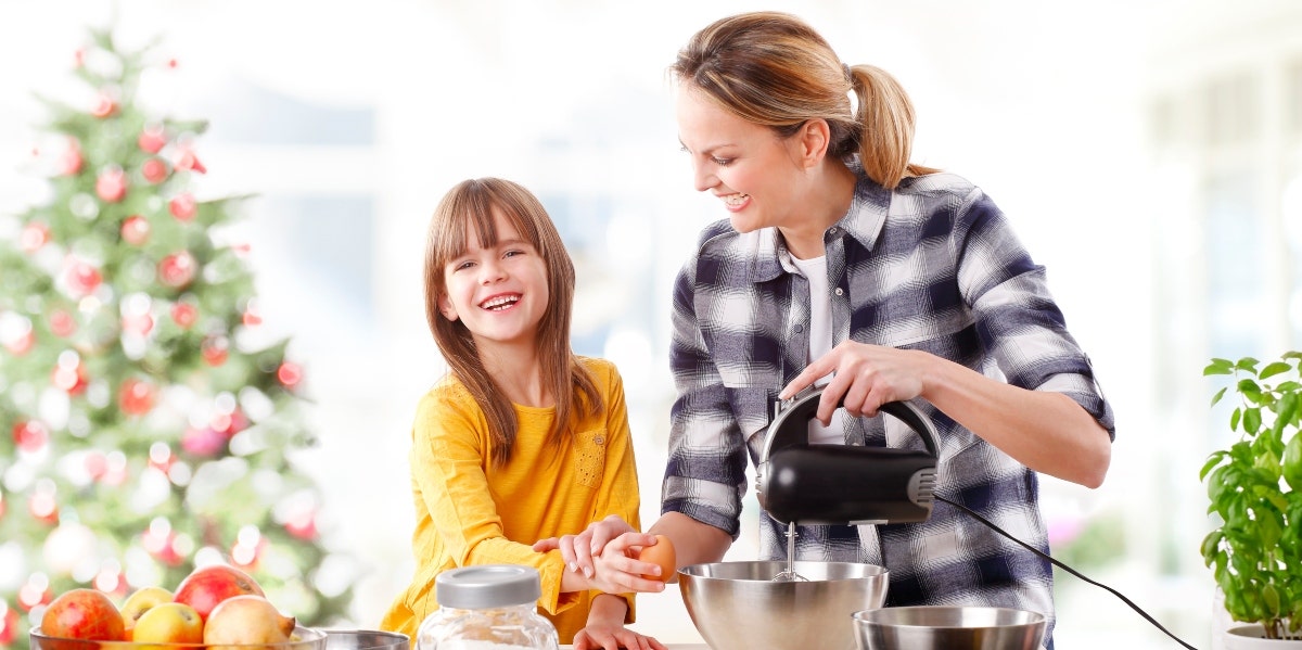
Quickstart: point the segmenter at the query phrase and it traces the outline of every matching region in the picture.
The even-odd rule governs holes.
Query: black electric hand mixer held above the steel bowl
[[[809,422],[822,389],[779,403],[756,468],[759,505],[776,521],[806,524],[902,524],[931,515],[936,488],[936,430],[917,406],[883,404],[922,435],[927,452],[888,447],[810,444]]]

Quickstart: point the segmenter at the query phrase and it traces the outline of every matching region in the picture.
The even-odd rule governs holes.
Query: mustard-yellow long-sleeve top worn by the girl
[[[579,533],[608,515],[638,521],[638,478],[629,434],[624,382],[615,365],[579,357],[605,401],[596,416],[575,416],[574,435],[561,447],[546,442],[553,408],[516,405],[518,431],[510,462],[492,462],[488,421],[470,392],[450,374],[417,409],[411,430],[411,491],[417,571],[380,621],[380,629],[417,641],[417,629],[437,610],[435,577],[477,564],[522,564],[538,569],[539,611],[551,619],[561,643],[587,623],[600,591],[561,593],[560,551],[535,552],[534,542]],[[625,623],[633,621],[633,595]]]

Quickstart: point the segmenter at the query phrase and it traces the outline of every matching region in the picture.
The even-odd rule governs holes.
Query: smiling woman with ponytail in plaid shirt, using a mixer
[[[796,17],[720,20],[671,72],[695,188],[729,219],[702,232],[674,285],[677,400],[648,533],[669,537],[680,565],[721,559],[772,401],[824,386],[812,442],[922,448],[858,417],[913,400],[940,435],[937,494],[1047,552],[1036,474],[1098,487],[1113,414],[999,208],[911,164],[904,90],[844,65]],[[607,520],[559,544],[587,567],[630,529]],[[766,559],[785,558],[784,533],[762,517]],[[921,524],[801,526],[797,558],[884,565],[889,606],[1044,612],[1052,647],[1049,564],[948,504]]]

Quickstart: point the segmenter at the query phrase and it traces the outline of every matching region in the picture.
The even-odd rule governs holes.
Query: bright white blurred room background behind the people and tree
[[[1302,5],[1289,0],[888,3],[741,0],[0,0],[0,214],[48,198],[30,172],[33,92],[72,87],[87,26],[160,39],[176,69],[139,100],[207,119],[198,194],[256,194],[259,309],[292,337],[320,444],[323,539],[362,567],[375,627],[411,577],[406,474],[419,396],[447,370],[421,263],[443,193],[475,176],[533,189],[578,263],[574,348],[618,363],[659,513],[672,400],[669,287],[724,216],[691,189],[664,74],[729,13],[812,23],[849,64],[892,72],[917,162],[1009,215],[1117,413],[1098,490],[1044,479],[1053,555],[1190,643],[1212,645],[1198,470],[1225,443],[1211,357],[1302,346]],[[0,279],[3,281],[3,279]],[[730,559],[754,559],[749,524]],[[1059,647],[1174,647],[1120,599],[1059,573]],[[638,629],[693,641],[676,598]]]

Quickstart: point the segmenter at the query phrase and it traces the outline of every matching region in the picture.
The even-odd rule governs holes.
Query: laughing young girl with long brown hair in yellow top
[[[439,203],[424,259],[426,315],[452,373],[421,400],[411,431],[417,573],[380,628],[415,638],[435,577],[473,564],[538,569],[538,607],[575,650],[664,650],[624,628],[633,594],[612,569],[654,573],[624,543],[585,572],[534,542],[617,516],[637,526],[638,481],[615,366],[569,345],[574,266],[542,203],[500,178],[467,180]],[[539,546],[539,548],[546,548]],[[646,580],[638,590],[663,585]]]

